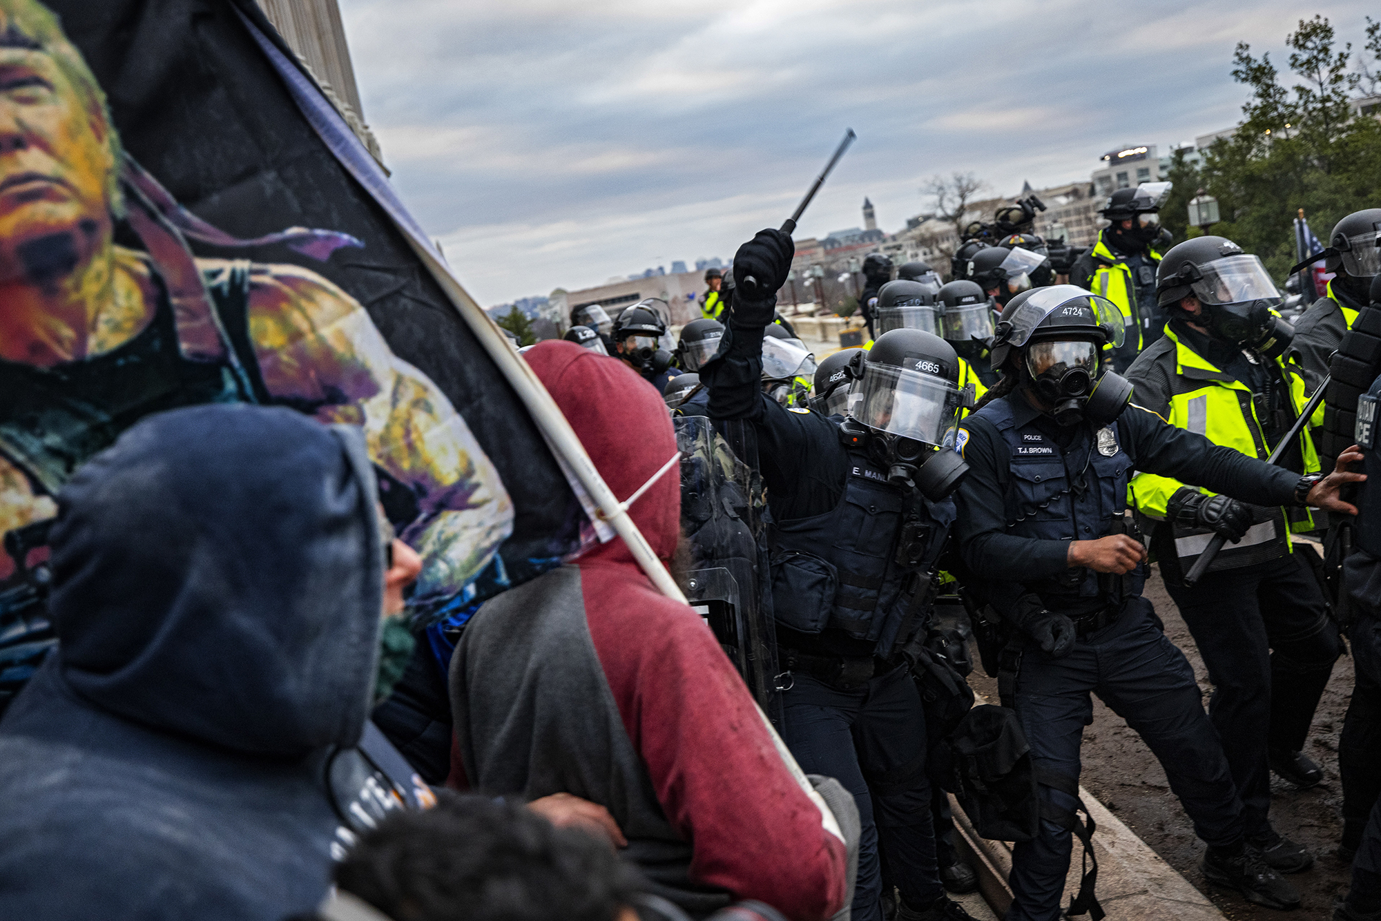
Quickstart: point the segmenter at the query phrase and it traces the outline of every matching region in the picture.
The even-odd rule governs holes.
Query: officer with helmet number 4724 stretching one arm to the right
[[[1259,505],[1346,510],[1337,493],[1351,476],[1302,481],[1130,405],[1128,382],[1102,370],[1123,334],[1117,307],[1083,289],[1018,294],[993,344],[1003,381],[958,435],[971,471],[956,494],[956,537],[972,587],[1005,630],[998,685],[1026,733],[1043,799],[1040,834],[1014,849],[1008,921],[1059,917],[1091,692],[1164,765],[1210,845],[1208,878],[1277,909],[1300,900],[1247,842],[1193,670],[1142,598],[1146,551],[1127,533],[1127,483],[1138,469]],[[1229,540],[1247,523],[1222,510],[1201,521]]]

